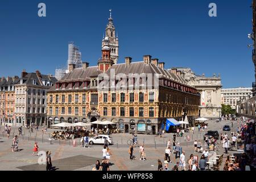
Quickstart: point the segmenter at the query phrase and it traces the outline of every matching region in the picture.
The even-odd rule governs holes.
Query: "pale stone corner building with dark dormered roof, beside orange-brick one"
[[[22,71],[15,85],[15,125],[46,126],[46,92],[56,81],[55,77],[41,75],[39,71]]]

